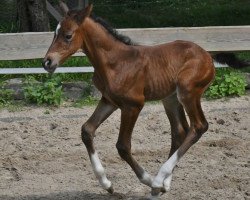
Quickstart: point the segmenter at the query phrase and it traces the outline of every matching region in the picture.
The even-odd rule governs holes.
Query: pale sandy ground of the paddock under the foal
[[[250,199],[250,95],[203,101],[209,131],[179,162],[171,191],[161,199]],[[80,129],[94,107],[27,107],[0,111],[0,199],[138,200],[142,185],[115,148],[120,111],[96,132],[95,143],[115,194],[97,182]],[[144,107],[133,134],[133,154],[152,175],[168,157],[170,126],[161,104]]]

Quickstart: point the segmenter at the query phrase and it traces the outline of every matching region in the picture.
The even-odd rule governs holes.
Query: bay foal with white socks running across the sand
[[[157,46],[132,45],[100,20],[92,18],[92,5],[81,11],[68,11],[57,26],[54,40],[44,58],[44,68],[54,72],[78,49],[94,66],[93,82],[102,98],[82,126],[94,173],[100,184],[112,193],[111,182],[98,158],[93,134],[116,109],[121,109],[120,133],[116,147],[139,180],[152,188],[152,198],[170,188],[172,172],[179,159],[208,129],[201,108],[201,96],[214,78],[209,53],[187,41]],[[171,124],[169,159],[155,178],[132,157],[131,135],[144,102],[162,100]],[[188,124],[184,109],[190,119]]]

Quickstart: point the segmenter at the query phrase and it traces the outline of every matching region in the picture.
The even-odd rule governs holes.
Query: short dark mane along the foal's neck
[[[125,36],[125,35],[118,33],[118,31],[116,29],[114,29],[112,26],[110,26],[101,17],[97,17],[97,16],[92,14],[91,19],[93,19],[98,24],[102,25],[115,39],[117,39],[117,40],[119,40],[122,43],[127,44],[127,45],[135,45],[135,43],[128,36]]]

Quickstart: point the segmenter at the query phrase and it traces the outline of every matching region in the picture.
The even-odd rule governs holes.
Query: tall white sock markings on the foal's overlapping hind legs
[[[162,165],[157,176],[155,177],[152,186],[159,188],[166,184],[166,188],[170,188],[172,179],[172,171],[179,161],[178,150]],[[164,180],[166,179],[166,182]]]

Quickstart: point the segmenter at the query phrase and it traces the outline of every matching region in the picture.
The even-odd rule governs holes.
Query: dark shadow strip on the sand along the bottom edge
[[[147,198],[136,195],[114,194],[97,194],[87,191],[69,191],[61,193],[51,193],[46,195],[27,195],[27,196],[8,196],[0,195],[1,200],[146,200]]]

